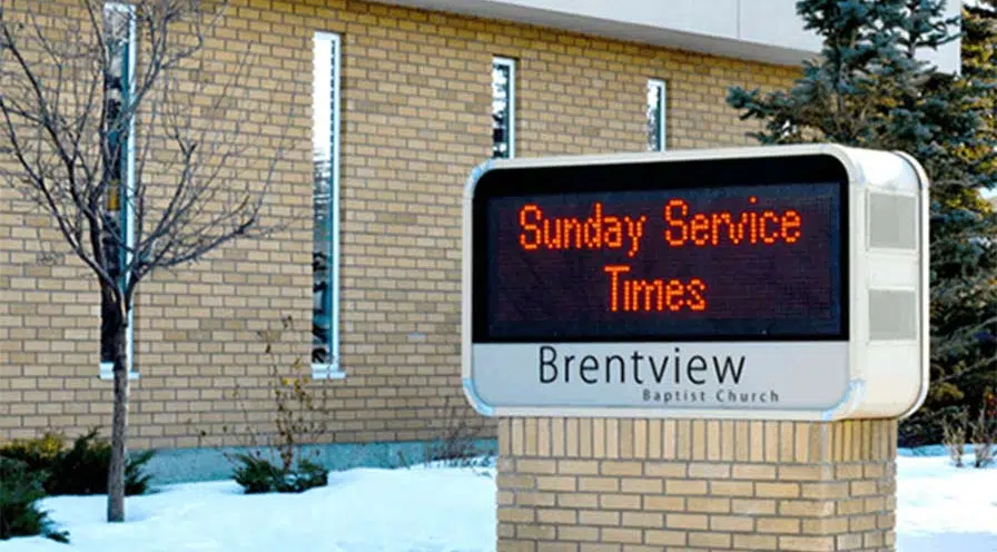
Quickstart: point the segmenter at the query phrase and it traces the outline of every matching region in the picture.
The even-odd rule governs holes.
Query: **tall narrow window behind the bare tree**
[[[135,93],[135,8],[108,2],[103,6],[103,29],[107,45],[107,76],[105,101],[107,102],[107,178],[105,196],[105,225],[110,230],[105,237],[108,269],[122,288],[128,285],[132,247],[135,245],[135,119],[129,114],[129,102]],[[135,357],[135,316],[129,308],[126,355],[129,377]],[[113,377],[115,351],[101,331],[100,377]]]

